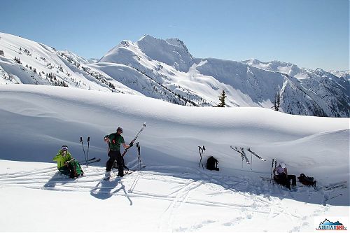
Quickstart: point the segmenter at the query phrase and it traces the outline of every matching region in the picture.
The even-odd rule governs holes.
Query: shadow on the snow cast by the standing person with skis
[[[114,190],[112,192],[112,190],[114,188],[116,188],[118,184],[120,184],[120,188],[117,188],[116,190]],[[125,197],[127,197],[127,199],[130,202],[130,206],[132,206],[132,200],[130,199],[129,195],[127,195],[127,192],[125,190],[125,185],[123,185],[123,182],[121,181],[120,177],[115,178],[114,180],[110,180],[110,181],[104,181],[104,179],[102,179],[90,191],[90,195],[92,195],[93,197],[96,197],[98,199],[104,200],[104,199],[108,199],[108,198],[112,197],[113,195],[118,193],[120,190],[123,190]]]

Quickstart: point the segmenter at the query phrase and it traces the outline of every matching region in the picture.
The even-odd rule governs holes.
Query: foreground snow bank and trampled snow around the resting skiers
[[[195,108],[129,94],[2,85],[0,119],[0,204],[6,210],[0,213],[1,230],[311,232],[316,217],[349,218],[349,118]],[[120,125],[130,141],[144,121],[142,175],[102,181],[104,135]],[[84,141],[90,136],[90,157],[102,161],[73,181],[48,162],[63,144],[84,160],[80,136]],[[202,145],[207,148],[204,164],[214,155],[220,171],[198,167]],[[230,145],[250,147],[267,162],[253,157],[251,166],[242,163]],[[132,148],[125,157],[133,169],[136,154]],[[290,174],[314,176],[319,190],[298,183],[289,192],[263,181],[261,176],[270,176],[272,158],[286,162]],[[325,188],[339,182],[344,188]],[[82,210],[74,225],[54,224],[66,215],[64,206],[73,204]],[[20,206],[20,213],[13,206]]]

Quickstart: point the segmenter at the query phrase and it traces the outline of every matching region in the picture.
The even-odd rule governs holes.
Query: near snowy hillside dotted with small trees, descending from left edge
[[[81,89],[140,94],[93,69],[89,61],[69,51],[0,33],[0,84],[59,85]]]

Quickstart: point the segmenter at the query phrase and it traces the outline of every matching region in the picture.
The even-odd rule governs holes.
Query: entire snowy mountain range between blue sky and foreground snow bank
[[[38,61],[31,61],[33,57],[21,52],[20,48],[36,51],[44,46],[50,51],[47,56],[53,56],[50,59],[53,66],[51,69],[58,72],[54,73],[58,83],[45,77],[52,71],[46,69],[48,64],[41,60],[41,69],[45,68],[45,76],[37,77],[35,73],[30,73],[29,68],[29,78],[12,78],[12,83],[62,84],[84,89],[141,94],[188,106],[216,106],[219,94],[225,90],[228,96],[227,106],[272,108],[276,94],[279,93],[280,111],[285,113],[350,116],[349,77],[337,71],[312,71],[300,69],[294,64],[260,62],[256,59],[234,62],[195,58],[183,41],[176,38],[162,40],[149,35],[135,43],[121,41],[98,62],[91,63],[69,51],[57,52],[32,41],[29,45],[28,40],[16,36],[0,35],[0,50],[4,48],[5,53],[4,57],[0,56],[1,61],[20,66],[21,69],[26,69],[23,67],[25,64],[36,67]],[[40,47],[37,48],[37,45]],[[10,50],[11,46],[17,49]],[[37,55],[39,53],[36,52]],[[16,56],[25,62],[18,64],[13,60]],[[5,81],[2,80],[1,83],[10,83],[9,73],[12,77],[20,76],[17,71],[9,69],[5,62],[1,62],[0,66],[6,69],[3,71]],[[60,73],[61,66],[66,73]],[[26,75],[28,76],[23,74],[25,77]]]

